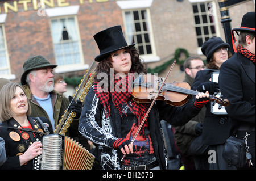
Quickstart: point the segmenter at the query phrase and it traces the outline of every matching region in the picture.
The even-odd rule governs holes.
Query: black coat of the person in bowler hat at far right
[[[221,65],[218,79],[221,93],[229,100],[230,135],[240,124],[255,127],[255,65],[239,53]]]

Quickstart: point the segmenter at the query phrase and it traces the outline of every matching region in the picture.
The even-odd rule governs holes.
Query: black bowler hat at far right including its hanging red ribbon
[[[235,47],[236,39],[234,37],[234,31],[237,33],[238,36],[238,31],[255,33],[255,11],[247,12],[245,15],[243,15],[240,28],[233,28],[231,32],[233,49],[235,52],[237,52]]]

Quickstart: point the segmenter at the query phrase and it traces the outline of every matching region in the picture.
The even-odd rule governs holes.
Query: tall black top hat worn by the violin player
[[[100,31],[93,36],[100,50],[100,55],[95,58],[95,61],[100,62],[102,58],[108,54],[123,48],[134,47],[134,44],[128,45],[123,36],[122,27],[114,26]]]

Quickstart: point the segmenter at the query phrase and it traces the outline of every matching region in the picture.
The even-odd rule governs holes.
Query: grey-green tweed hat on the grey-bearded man
[[[22,85],[25,85],[27,83],[26,82],[27,74],[32,70],[46,68],[46,67],[50,67],[53,69],[53,68],[56,68],[56,66],[57,65],[50,64],[50,62],[46,60],[46,58],[40,55],[28,58],[28,60],[26,60],[26,62],[24,62],[23,64],[24,72],[22,74],[22,77],[20,78],[20,82],[22,83]]]

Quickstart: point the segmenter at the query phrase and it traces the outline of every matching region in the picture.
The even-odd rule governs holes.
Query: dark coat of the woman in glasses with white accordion
[[[217,71],[217,70],[207,69],[207,70],[198,71],[191,89],[196,90],[197,86],[199,86],[200,83],[202,82],[210,82],[212,73],[214,71]],[[224,144],[226,139],[229,136],[228,116],[213,114],[211,112],[210,102],[207,103],[205,106],[206,106],[206,111],[205,111],[203,133],[202,133],[203,144],[206,144],[206,145]]]

